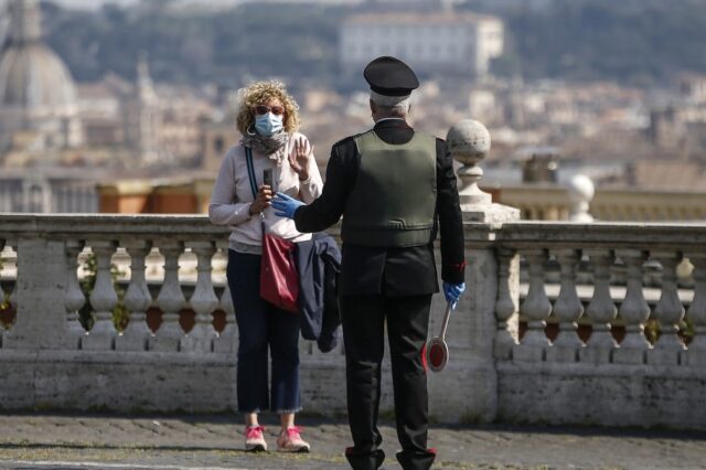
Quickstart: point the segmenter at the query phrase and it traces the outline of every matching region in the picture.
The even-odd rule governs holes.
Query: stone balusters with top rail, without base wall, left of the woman
[[[3,216],[0,244],[17,253],[17,268],[6,269],[15,273],[11,301],[18,305],[17,321],[3,334],[3,348],[232,352],[235,334],[231,296],[226,285],[221,298],[216,298],[211,276],[214,254],[227,249],[227,233],[226,228],[210,225],[203,216]],[[124,299],[130,321],[121,334],[113,322],[118,297],[111,266],[120,256],[118,247],[130,259]],[[163,281],[156,299],[150,297],[146,273],[146,257],[152,248],[164,259]],[[95,255],[97,264],[95,287],[88,298],[79,288],[77,269],[85,249]],[[197,258],[195,288],[189,299],[179,280],[179,260],[186,252]],[[95,311],[90,331],[84,330],[77,316],[86,302]],[[150,306],[163,312],[163,322],[154,335],[146,323]],[[189,334],[179,325],[179,312],[185,308],[196,313],[196,324]],[[221,334],[212,327],[211,313],[216,308],[227,313]],[[57,316],[62,310],[63,314]],[[42,334],[40,325],[54,334]]]

